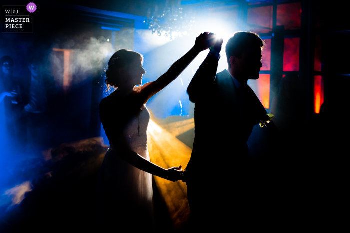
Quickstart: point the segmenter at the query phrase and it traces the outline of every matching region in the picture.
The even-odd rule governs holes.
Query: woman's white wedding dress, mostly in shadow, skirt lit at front
[[[140,87],[131,98],[106,97],[100,104],[103,128],[109,138],[97,184],[99,226],[97,230],[152,231],[152,175],[121,159],[112,137],[122,133],[129,148],[149,161],[147,127],[150,114],[139,102]],[[140,107],[141,106],[141,107]]]

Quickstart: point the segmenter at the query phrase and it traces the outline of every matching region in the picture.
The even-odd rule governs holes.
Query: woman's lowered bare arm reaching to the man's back
[[[115,138],[115,140],[113,140],[112,143],[118,155],[123,160],[135,166],[136,168],[170,181],[177,181],[182,179],[183,174],[182,174],[181,166],[172,167],[168,169],[159,167],[158,165],[148,161],[147,159],[143,158],[141,155],[132,151],[127,146],[127,142],[124,136],[119,135],[117,138]]]

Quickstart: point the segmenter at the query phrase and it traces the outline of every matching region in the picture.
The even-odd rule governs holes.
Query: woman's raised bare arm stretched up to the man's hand
[[[173,63],[166,73],[153,82],[145,83],[141,88],[144,103],[175,80],[201,51],[208,49],[208,40],[212,35],[211,33],[208,35],[208,32],[200,34],[196,38],[194,46],[183,57]]]

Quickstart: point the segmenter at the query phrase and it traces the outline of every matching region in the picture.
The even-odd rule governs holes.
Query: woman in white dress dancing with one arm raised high
[[[105,82],[117,89],[102,99],[100,119],[110,142],[97,182],[98,232],[152,231],[153,190],[151,174],[181,180],[181,166],[164,169],[150,162],[147,126],[149,98],[176,79],[199,52],[208,48],[208,33],[169,70],[153,82],[142,84],[143,56],[121,49],[108,62]],[[139,85],[138,87],[135,87]]]

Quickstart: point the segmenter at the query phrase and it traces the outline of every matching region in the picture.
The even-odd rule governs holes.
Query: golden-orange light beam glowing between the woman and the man
[[[179,133],[178,129],[180,131],[192,129],[194,122],[191,121],[192,119],[180,121],[176,126],[173,123],[168,124],[166,125],[167,130],[154,121],[149,121],[148,149],[150,160],[153,163],[163,168],[182,165],[184,169],[187,166],[192,150],[174,135]],[[171,182],[157,176],[154,176],[154,180],[166,203],[175,229],[181,228],[181,225],[188,221],[190,215],[186,184],[182,181]]]

